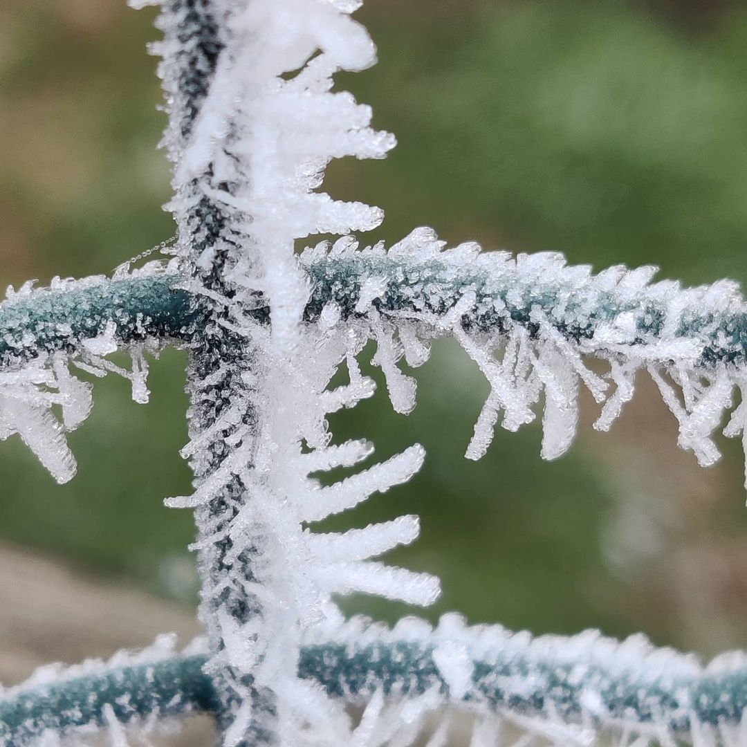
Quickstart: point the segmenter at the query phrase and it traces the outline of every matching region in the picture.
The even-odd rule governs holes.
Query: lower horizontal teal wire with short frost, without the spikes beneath
[[[462,671],[447,664],[456,636],[470,654]],[[49,681],[14,689],[0,701],[0,737],[22,743],[45,731],[85,734],[92,725],[217,714],[220,698],[204,665],[205,654],[174,654],[164,640],[145,657],[120,654],[55,670]],[[528,671],[535,676],[527,678]],[[425,713],[444,706],[500,714],[519,727],[554,713],[578,724],[545,724],[545,735],[563,744],[587,744],[599,724],[610,723],[630,734],[663,736],[664,743],[668,734],[692,731],[719,734],[735,745],[743,737],[730,725],[740,722],[747,660],[724,657],[702,669],[694,657],[653,649],[642,636],[622,644],[593,632],[531,639],[498,627],[466,628],[453,616],[436,630],[410,619],[394,630],[345,630],[332,641],[306,645],[298,673],[330,698],[371,710],[384,707],[382,695],[421,701],[421,715],[406,724],[411,737],[423,731]],[[475,727],[485,740],[474,743],[497,743],[494,728],[488,720]]]

